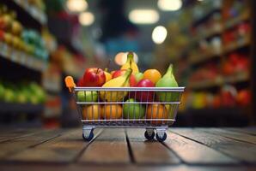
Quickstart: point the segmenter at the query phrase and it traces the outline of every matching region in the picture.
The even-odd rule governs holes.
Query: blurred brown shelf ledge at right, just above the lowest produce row
[[[241,73],[233,76],[218,76],[215,80],[203,80],[203,81],[190,83],[188,87],[193,90],[208,89],[216,86],[221,86],[223,84],[235,84],[235,83],[240,83],[247,80],[249,80],[249,74]]]

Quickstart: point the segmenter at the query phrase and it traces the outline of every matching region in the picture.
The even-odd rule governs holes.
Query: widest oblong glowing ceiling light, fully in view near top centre
[[[154,9],[134,9],[129,19],[135,24],[154,24],[159,20],[159,15]]]

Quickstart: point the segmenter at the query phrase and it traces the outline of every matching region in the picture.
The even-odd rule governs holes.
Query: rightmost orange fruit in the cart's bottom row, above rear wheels
[[[146,111],[147,119],[168,119],[168,109],[162,104],[149,104]],[[161,125],[166,121],[150,121],[152,124]]]

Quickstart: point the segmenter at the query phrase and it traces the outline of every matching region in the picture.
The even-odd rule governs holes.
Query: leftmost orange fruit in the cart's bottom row
[[[101,106],[93,104],[82,109],[83,120],[99,120],[101,119]]]

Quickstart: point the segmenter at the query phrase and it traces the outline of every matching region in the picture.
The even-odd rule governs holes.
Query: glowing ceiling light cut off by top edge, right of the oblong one
[[[182,6],[181,0],[158,0],[157,3],[159,9],[165,11],[175,11],[179,10]]]

